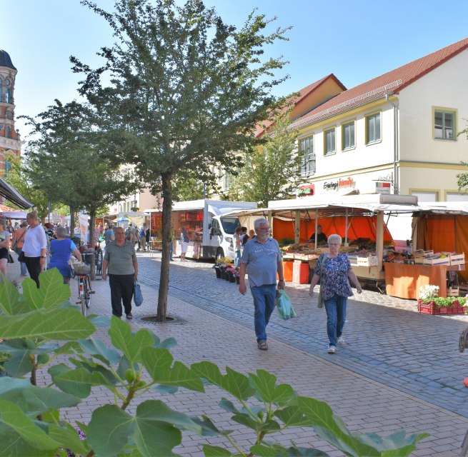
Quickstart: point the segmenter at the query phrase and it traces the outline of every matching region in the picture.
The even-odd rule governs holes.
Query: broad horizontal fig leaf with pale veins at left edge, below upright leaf
[[[19,316],[0,316],[2,338],[44,338],[67,341],[86,338],[96,330],[77,309],[31,311]]]

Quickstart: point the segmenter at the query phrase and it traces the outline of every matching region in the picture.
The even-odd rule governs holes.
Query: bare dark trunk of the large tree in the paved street
[[[161,276],[159,277],[158,312],[156,320],[166,321],[167,294],[169,291],[169,243],[172,211],[172,175],[162,174],[162,258]]]

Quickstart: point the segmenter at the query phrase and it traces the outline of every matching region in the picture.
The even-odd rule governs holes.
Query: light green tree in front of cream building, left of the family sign
[[[270,200],[287,199],[304,182],[300,174],[302,152],[297,149],[297,133],[289,129],[290,111],[274,116],[274,131],[257,150],[244,152],[244,166],[231,176],[232,199],[257,201],[266,207]]]

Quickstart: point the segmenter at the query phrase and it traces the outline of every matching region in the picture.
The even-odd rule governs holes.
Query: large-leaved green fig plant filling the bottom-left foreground
[[[109,336],[114,347],[94,338],[99,318],[85,318],[69,303],[69,288],[56,270],[41,273],[41,288],[25,279],[24,294],[10,283],[0,285],[2,350],[11,354],[4,368],[11,377],[0,378],[0,456],[64,456],[65,448],[83,456],[174,456],[181,431],[202,438],[224,436],[235,453],[202,444],[205,456],[327,456],[292,443],[286,448],[268,441],[289,427],[312,427],[314,432],[347,456],[408,456],[427,434],[404,431],[382,438],[354,433],[322,401],[299,396],[289,384],[264,370],[243,374],[201,361],[186,366],[174,361],[169,348],[175,341],[160,341],[148,329],[136,333],[118,318],[111,318]],[[47,368],[51,383],[36,386]],[[30,380],[24,378],[30,374]],[[252,431],[254,444],[243,449],[230,430],[216,427],[208,416],[190,417],[159,399],[179,388],[204,392],[210,384],[230,398],[219,406],[231,421]],[[61,408],[79,405],[94,387],[107,388],[114,401],[96,408],[89,423],[74,426],[61,420]],[[127,408],[136,402],[136,413]],[[244,438],[244,436],[243,436]]]

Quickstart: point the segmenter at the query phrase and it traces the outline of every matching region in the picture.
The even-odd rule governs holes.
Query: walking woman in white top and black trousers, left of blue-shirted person
[[[39,288],[39,274],[46,264],[47,236],[44,227],[39,224],[37,211],[26,214],[26,222],[29,227],[24,236],[24,263],[30,278],[36,281],[36,287]]]

